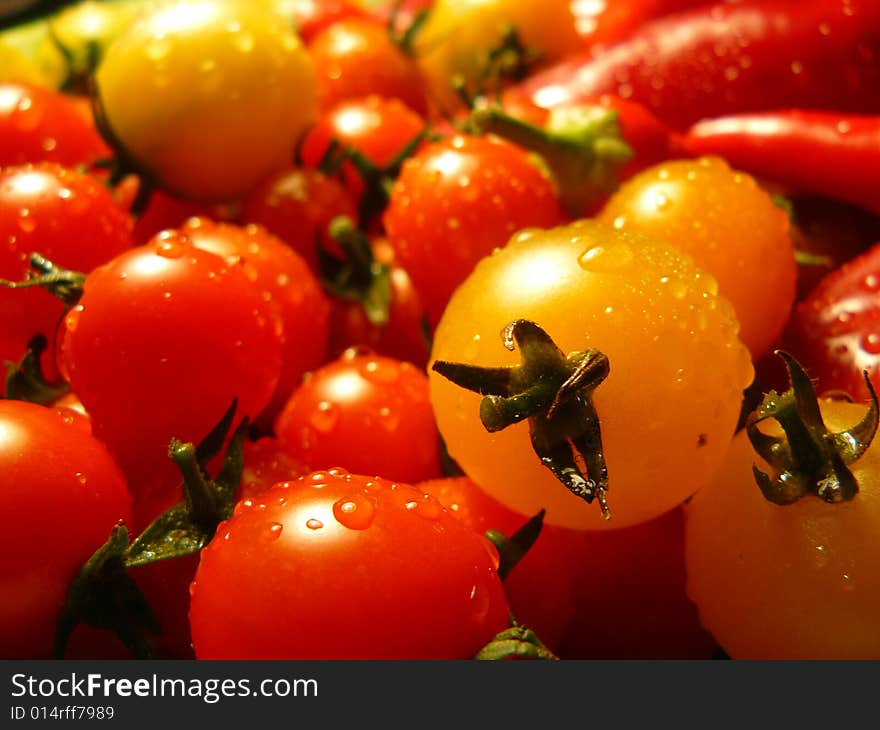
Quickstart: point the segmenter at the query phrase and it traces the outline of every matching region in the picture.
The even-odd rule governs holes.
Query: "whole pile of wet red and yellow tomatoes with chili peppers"
[[[0,655],[880,657],[880,11],[607,6],[0,29]]]

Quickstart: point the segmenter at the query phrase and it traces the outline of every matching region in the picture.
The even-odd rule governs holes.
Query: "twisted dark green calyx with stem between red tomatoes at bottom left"
[[[243,470],[242,446],[248,421],[229,437],[223,464],[213,478],[205,464],[226,441],[237,403],[198,446],[172,439],[169,457],[183,477],[183,500],[159,515],[130,541],[128,529],[113,527],[107,542],[85,563],[71,583],[58,620],[54,655],[63,658],[67,641],[80,623],[113,631],[136,658],[152,658],[148,635],[161,633],[149,604],[129,570],[198,553],[217,525],[232,515]]]

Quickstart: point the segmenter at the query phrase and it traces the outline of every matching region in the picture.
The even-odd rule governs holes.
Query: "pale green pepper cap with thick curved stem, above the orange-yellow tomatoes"
[[[601,106],[554,109],[543,127],[484,106],[471,112],[470,122],[482,133],[539,155],[556,180],[563,206],[575,217],[617,188],[620,171],[634,154],[623,139],[617,112]]]

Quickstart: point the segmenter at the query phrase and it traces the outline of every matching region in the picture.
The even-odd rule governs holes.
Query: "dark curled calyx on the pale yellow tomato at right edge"
[[[777,471],[771,477],[754,466],[758,487],[767,500],[780,505],[808,494],[831,503],[853,499],[859,485],[849,466],[865,453],[878,425],[877,396],[867,374],[868,412],[852,428],[832,433],[803,367],[788,353],[777,350],[776,354],[785,361],[791,388],[781,395],[767,393],[746,421],[755,451]],[[768,418],[779,423],[784,436],[770,436],[759,428]]]

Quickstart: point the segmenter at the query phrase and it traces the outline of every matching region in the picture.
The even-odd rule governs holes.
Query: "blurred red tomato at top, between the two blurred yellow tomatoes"
[[[415,58],[378,20],[345,18],[331,23],[308,43],[322,109],[376,94],[400,99],[418,114],[428,111],[425,86]]]

